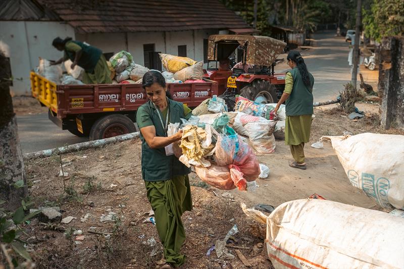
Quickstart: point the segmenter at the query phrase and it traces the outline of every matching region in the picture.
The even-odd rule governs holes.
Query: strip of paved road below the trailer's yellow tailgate
[[[17,116],[18,136],[23,153],[88,141],[62,131],[47,118],[47,113]]]

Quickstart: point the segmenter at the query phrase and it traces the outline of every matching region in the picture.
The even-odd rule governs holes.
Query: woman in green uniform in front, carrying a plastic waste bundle
[[[192,112],[186,105],[171,99],[159,71],[144,74],[142,85],[148,98],[136,113],[142,141],[142,177],[164,246],[166,264],[161,268],[172,268],[185,261],[185,255],[180,254],[185,240],[181,216],[184,211],[192,210],[192,200],[190,169],[173,155],[172,149],[172,143],[181,140],[182,131],[167,136],[167,126],[181,123],[181,118],[188,120]]]

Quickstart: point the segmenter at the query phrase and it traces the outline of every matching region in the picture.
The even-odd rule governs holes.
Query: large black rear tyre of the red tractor
[[[240,90],[240,95],[259,103],[276,103],[278,96],[275,85],[266,80],[255,80]],[[260,97],[260,98],[258,98]]]

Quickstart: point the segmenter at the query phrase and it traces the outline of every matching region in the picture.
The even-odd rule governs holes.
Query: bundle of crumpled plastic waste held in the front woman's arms
[[[193,166],[201,180],[216,188],[246,190],[247,182],[261,172],[256,155],[229,126],[226,113],[204,121],[198,117],[183,121],[179,160]]]

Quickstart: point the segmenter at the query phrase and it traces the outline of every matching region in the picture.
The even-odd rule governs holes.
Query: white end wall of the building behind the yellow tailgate
[[[52,46],[56,37],[75,38],[74,29],[60,22],[1,21],[0,42],[8,47],[12,91],[15,94],[30,93],[29,72],[38,65],[38,57],[58,60],[63,52]]]

